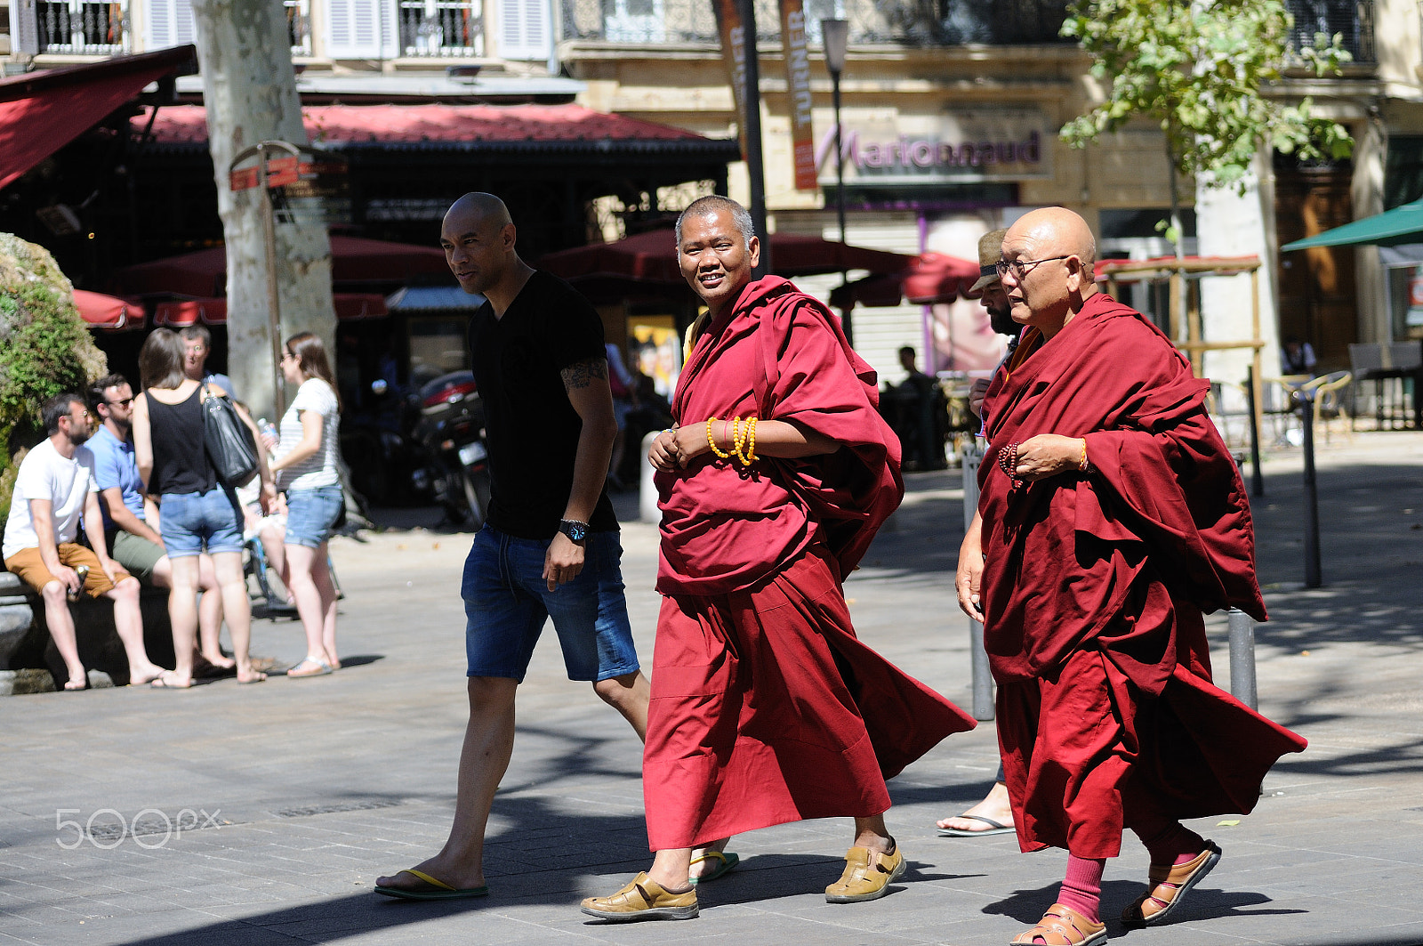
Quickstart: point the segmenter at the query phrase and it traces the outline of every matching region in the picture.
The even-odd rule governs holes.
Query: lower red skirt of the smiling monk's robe
[[[653,851],[889,808],[885,779],[973,719],[862,644],[818,543],[774,578],[663,598],[643,749]]]

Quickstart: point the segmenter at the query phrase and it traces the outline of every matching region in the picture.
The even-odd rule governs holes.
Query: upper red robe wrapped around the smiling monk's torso
[[[840,321],[780,276],[743,288],[697,339],[677,380],[682,426],[756,415],[797,420],[842,447],[751,466],[704,453],[659,472],[663,594],[726,594],[764,580],[821,539],[850,574],[904,497],[899,439],[875,373]]]

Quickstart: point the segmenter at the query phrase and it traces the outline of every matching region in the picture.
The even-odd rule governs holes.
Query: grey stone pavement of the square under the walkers
[[[1255,511],[1272,621],[1258,628],[1261,708],[1311,739],[1269,775],[1255,814],[1194,823],[1225,849],[1181,922],[1114,940],[1423,943],[1423,435],[1321,447],[1325,586],[1302,587],[1301,459],[1265,464]],[[632,497],[620,497],[629,513]],[[909,496],[847,584],[861,635],[970,705],[968,623],[953,603],[958,472]],[[626,523],[639,650],[652,653],[653,527]],[[933,821],[979,796],[993,725],[951,737],[891,782],[911,862],[882,900],[827,905],[848,821],[737,838],[741,866],[689,923],[585,922],[649,855],[639,745],[545,635],[519,694],[514,765],[494,805],[485,900],[370,893],[444,839],[464,728],[458,576],[468,536],[410,529],[337,540],[346,668],[191,691],[100,690],[0,700],[0,943],[529,945],[1006,943],[1052,902],[1064,855],[1009,838],[942,839]],[[1225,678],[1224,620],[1211,621]],[[302,657],[300,628],[258,621],[255,651]],[[1225,685],[1222,682],[1222,685]],[[122,825],[122,828],[121,828]],[[1104,915],[1140,892],[1130,842]]]

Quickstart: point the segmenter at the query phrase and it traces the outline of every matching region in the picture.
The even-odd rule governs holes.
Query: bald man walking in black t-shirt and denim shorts
[[[569,680],[591,680],[639,738],[647,678],[638,667],[618,519],[603,480],[618,425],[603,326],[572,286],[525,264],[504,202],[467,194],[440,235],[461,288],[487,302],[470,322],[490,447],[488,521],[465,561],[470,724],[450,839],[376,880],[414,900],[482,896],[484,831],[514,751],[514,695],[554,618]]]

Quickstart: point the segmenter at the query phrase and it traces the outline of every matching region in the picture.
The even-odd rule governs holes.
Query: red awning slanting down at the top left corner
[[[0,80],[0,187],[92,128],[148,83],[198,71],[196,57],[192,46],[178,46]]]

